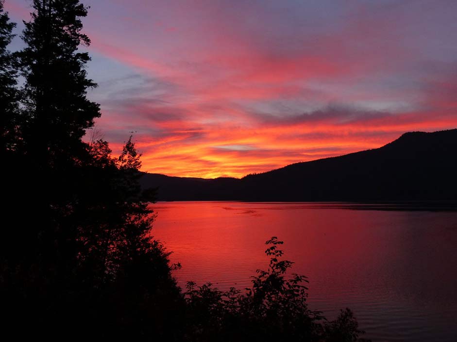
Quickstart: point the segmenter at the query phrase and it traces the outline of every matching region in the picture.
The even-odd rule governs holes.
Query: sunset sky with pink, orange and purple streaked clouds
[[[142,171],[242,177],[457,127],[455,0],[83,3],[98,135],[118,154],[134,132]],[[20,33],[31,1],[5,9]]]

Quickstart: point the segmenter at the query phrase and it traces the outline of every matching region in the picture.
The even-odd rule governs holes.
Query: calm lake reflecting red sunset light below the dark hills
[[[153,234],[179,285],[250,286],[268,267],[265,241],[284,241],[309,306],[355,312],[365,338],[457,341],[457,212],[343,203],[159,202]],[[363,209],[363,210],[358,210]],[[403,208],[405,209],[405,208]],[[407,208],[406,208],[407,209]]]

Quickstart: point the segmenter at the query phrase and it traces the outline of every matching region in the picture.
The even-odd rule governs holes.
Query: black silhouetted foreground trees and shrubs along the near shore
[[[306,303],[306,279],[286,278],[282,243],[267,241],[267,271],[246,293],[189,282],[151,235],[154,192],[139,184],[132,139],[121,155],[83,136],[100,116],[87,92],[90,61],[78,0],[33,0],[11,53],[15,24],[0,1],[4,336],[150,341],[357,341],[349,310],[325,320]],[[21,85],[17,78],[21,77]],[[33,177],[31,176],[33,175]]]

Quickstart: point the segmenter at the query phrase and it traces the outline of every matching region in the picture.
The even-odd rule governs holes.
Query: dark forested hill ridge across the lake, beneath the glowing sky
[[[372,150],[236,178],[145,174],[159,200],[455,201],[457,129],[409,132]]]

